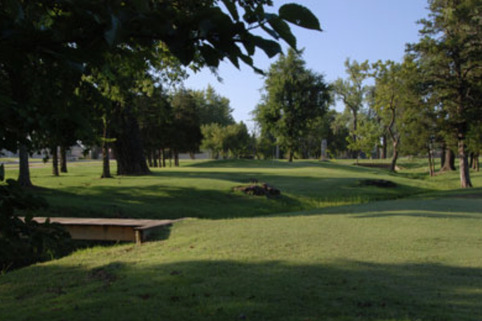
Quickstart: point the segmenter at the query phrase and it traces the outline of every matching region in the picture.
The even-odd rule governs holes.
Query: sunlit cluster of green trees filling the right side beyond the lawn
[[[400,154],[425,154],[432,175],[438,145],[442,170],[455,169],[458,154],[461,186],[471,187],[469,168],[478,170],[482,144],[482,5],[429,0],[429,8],[420,21],[422,38],[407,46],[401,63],[347,59],[347,77],[326,84],[295,51],[281,56],[254,112],[262,136],[284,148],[290,161],[322,138],[336,142],[332,151],[346,148],[357,159],[361,152],[386,158],[390,151],[393,171]],[[327,114],[333,100],[345,110]]]

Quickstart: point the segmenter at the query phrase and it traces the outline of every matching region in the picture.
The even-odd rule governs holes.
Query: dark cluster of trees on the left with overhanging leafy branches
[[[273,57],[281,40],[296,47],[290,24],[321,30],[303,6],[265,11],[270,6],[270,0],[2,2],[0,149],[19,151],[19,183],[32,185],[29,153],[48,148],[56,163],[58,146],[64,151],[78,140],[103,145],[103,177],[110,176],[109,145],[123,175],[149,173],[146,148],[150,158],[167,145],[192,149],[185,136],[199,137],[186,132],[196,95],[164,97],[185,76],[183,66],[216,68],[227,59],[260,71],[256,50]],[[165,114],[149,113],[156,108]],[[170,125],[162,131],[175,128],[175,139],[151,137],[161,124]]]

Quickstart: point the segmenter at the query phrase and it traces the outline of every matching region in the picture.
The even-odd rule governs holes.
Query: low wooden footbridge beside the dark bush
[[[148,236],[179,220],[142,220],[117,218],[50,217],[51,223],[62,225],[74,240],[130,241],[141,244]],[[35,217],[44,223],[46,217]]]

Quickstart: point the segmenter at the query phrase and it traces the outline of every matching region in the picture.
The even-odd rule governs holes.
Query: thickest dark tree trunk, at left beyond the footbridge
[[[121,109],[116,104],[116,126],[114,153],[117,161],[117,175],[150,174],[144,156],[139,124],[130,107]]]

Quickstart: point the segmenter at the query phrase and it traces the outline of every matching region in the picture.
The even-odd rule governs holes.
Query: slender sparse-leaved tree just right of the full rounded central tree
[[[346,80],[338,78],[333,84],[333,90],[337,99],[340,99],[345,105],[345,109],[352,114],[351,127],[351,146],[356,147],[356,131],[358,129],[358,113],[363,107],[365,96],[368,93],[368,87],[364,84],[369,76],[368,61],[358,63],[356,60],[350,62],[345,61],[346,72],[348,78]],[[358,158],[358,150],[353,150],[353,158]]]

